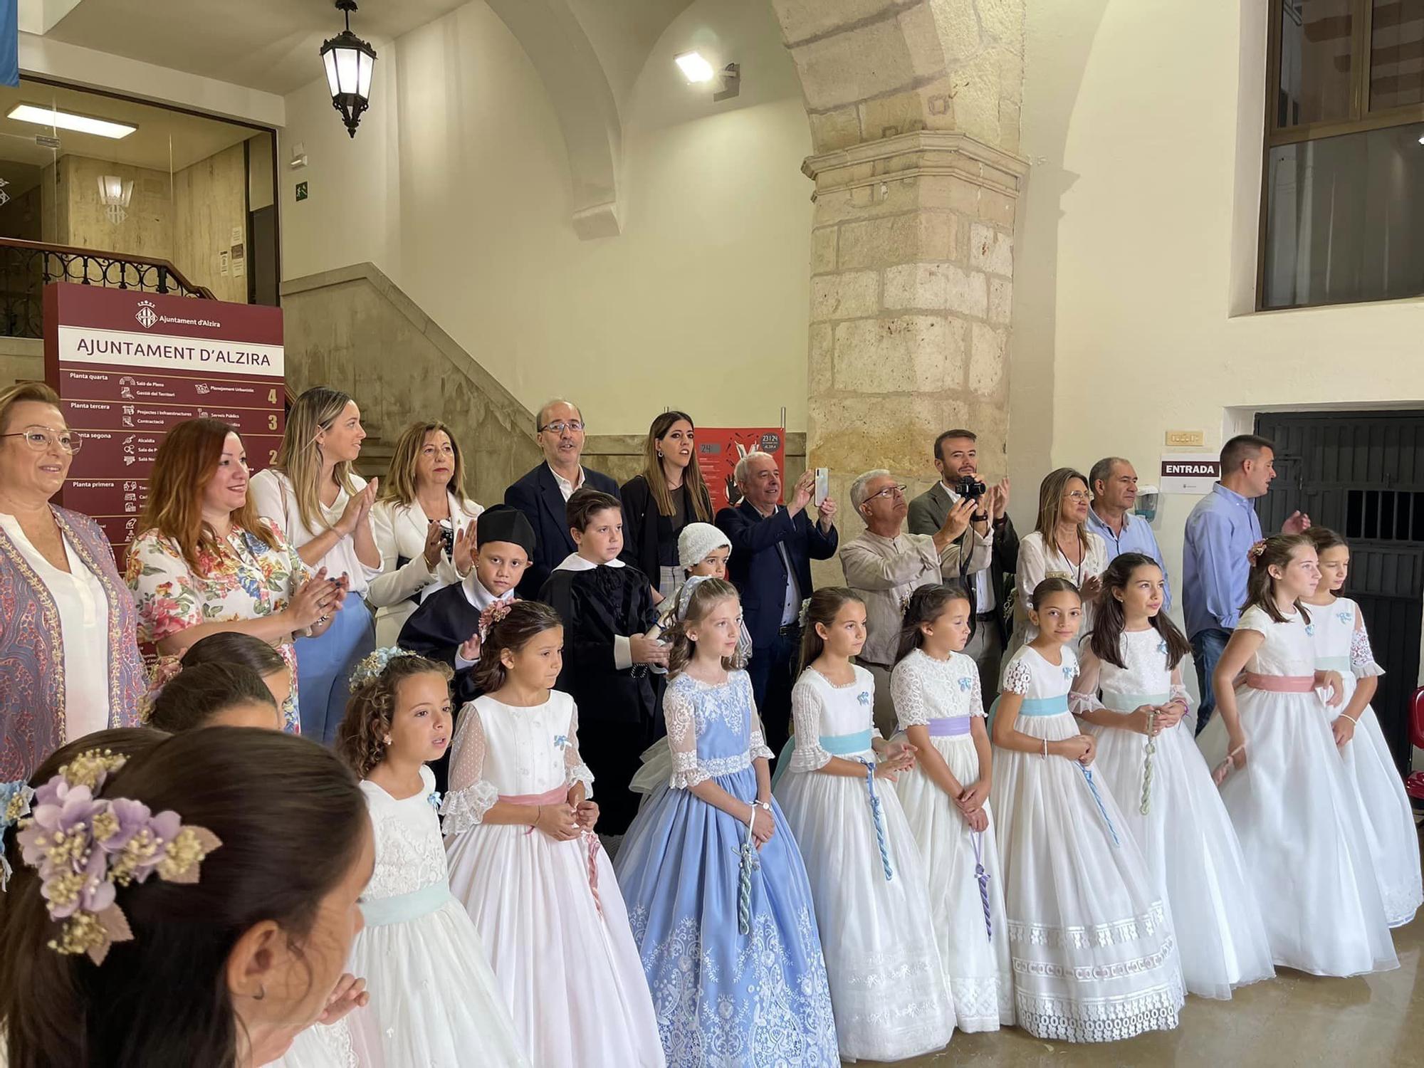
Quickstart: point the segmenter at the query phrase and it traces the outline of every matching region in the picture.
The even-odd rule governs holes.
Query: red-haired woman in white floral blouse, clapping
[[[199,638],[241,631],[272,642],[292,674],[282,706],[300,733],[292,638],[320,634],[346,594],[345,580],[312,575],[275,523],[248,500],[242,439],[216,419],[179,423],[158,447],[142,531],[128,547],[128,585],[140,641],[167,666]]]

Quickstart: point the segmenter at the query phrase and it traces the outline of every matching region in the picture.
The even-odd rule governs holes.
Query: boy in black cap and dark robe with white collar
[[[514,600],[530,558],[534,528],[518,508],[496,504],[480,513],[476,525],[474,567],[464,581],[447,585],[422,602],[400,628],[400,648],[454,668],[451,698],[456,708],[474,701],[480,639],[490,627],[494,605]]]

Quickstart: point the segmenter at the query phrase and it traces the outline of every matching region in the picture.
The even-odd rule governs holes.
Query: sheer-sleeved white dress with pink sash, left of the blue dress
[[[500,800],[557,805],[574,783],[592,796],[574,699],[550,691],[543,705],[515,708],[484,695],[459,723],[440,809],[450,889],[488,948],[531,1064],[662,1068],[652,995],[598,836],[558,842],[484,823]]]

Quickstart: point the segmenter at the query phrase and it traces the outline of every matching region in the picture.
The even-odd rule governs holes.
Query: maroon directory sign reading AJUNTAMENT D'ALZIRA
[[[256,471],[282,441],[282,312],[57,282],[44,289],[44,376],[84,440],[60,504],[131,541],[164,434],[209,416]]]

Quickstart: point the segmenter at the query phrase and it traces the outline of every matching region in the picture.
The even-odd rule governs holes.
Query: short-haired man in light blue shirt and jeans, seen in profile
[[[1222,480],[1196,503],[1186,520],[1182,611],[1202,692],[1196,733],[1202,733],[1216,709],[1212,672],[1246,602],[1250,572],[1246,554],[1262,537],[1252,500],[1265,497],[1270,490],[1276,477],[1274,461],[1276,450],[1270,439],[1255,434],[1233,437],[1222,446]],[[1299,534],[1307,527],[1310,517],[1297,511],[1282,524],[1280,533]]]

